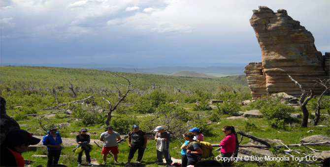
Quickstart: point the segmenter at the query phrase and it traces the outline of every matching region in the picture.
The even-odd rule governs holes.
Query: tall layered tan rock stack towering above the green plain
[[[278,92],[299,97],[300,88],[288,74],[305,90],[312,89],[316,94],[324,91],[313,80],[329,79],[327,62],[316,50],[311,32],[288,16],[286,10],[273,12],[266,6],[253,10],[250,23],[262,50],[262,62],[249,63],[244,71],[253,99]],[[329,55],[327,68],[329,71]]]

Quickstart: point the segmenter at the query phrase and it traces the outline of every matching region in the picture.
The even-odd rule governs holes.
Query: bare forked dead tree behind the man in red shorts
[[[115,105],[112,105],[110,103],[110,101],[108,101],[108,100],[106,100],[106,99],[103,98],[105,101],[108,102],[109,108],[110,108],[109,109],[109,112],[107,113],[107,117],[106,117],[106,121],[105,121],[105,124],[107,126],[110,125],[112,111],[115,111],[117,109],[117,107],[119,106],[119,104],[125,100],[125,98],[127,97],[128,93],[130,91],[132,91],[132,90],[135,89],[135,88],[132,87],[132,82],[137,79],[136,73],[135,73],[134,78],[133,78],[132,81],[130,79],[124,77],[124,76],[118,75],[117,73],[113,73],[113,75],[116,76],[116,77],[123,78],[124,80],[126,80],[127,86],[126,86],[126,90],[122,93],[122,91],[120,90],[120,88],[118,87],[118,85],[117,84],[115,85],[115,87],[117,89],[117,92],[115,93],[115,95],[118,96],[118,101],[117,101],[117,103]],[[121,85],[123,85],[123,84],[121,84]]]

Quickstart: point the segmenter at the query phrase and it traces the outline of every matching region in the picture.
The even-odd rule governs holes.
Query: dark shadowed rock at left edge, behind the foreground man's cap
[[[21,129],[15,119],[11,118],[6,113],[6,101],[0,97],[0,143],[6,137],[9,131]]]

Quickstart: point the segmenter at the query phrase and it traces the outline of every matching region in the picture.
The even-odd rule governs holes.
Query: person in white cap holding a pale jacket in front
[[[156,149],[157,149],[157,163],[158,165],[163,164],[163,155],[166,160],[166,165],[171,165],[171,155],[169,155],[169,132],[165,132],[164,128],[162,126],[157,126],[154,130],[156,132],[155,140],[156,143]]]

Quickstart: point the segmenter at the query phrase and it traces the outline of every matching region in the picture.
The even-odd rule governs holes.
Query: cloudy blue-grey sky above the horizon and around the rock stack
[[[261,61],[252,10],[285,9],[330,52],[330,0],[0,0],[0,64]]]

